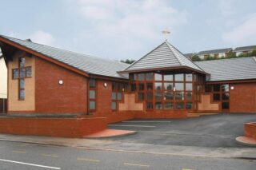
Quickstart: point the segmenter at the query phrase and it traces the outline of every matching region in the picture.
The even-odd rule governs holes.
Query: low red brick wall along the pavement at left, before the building
[[[15,135],[82,138],[106,129],[106,118],[0,117],[0,132]]]

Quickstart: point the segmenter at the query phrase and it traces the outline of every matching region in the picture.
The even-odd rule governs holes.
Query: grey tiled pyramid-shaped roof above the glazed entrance
[[[150,53],[147,53],[138,61],[135,61],[123,71],[130,72],[142,69],[162,68],[170,69],[171,67],[187,67],[188,69],[194,69],[198,72],[204,73],[198,65],[195,65],[193,61],[190,61],[190,59],[185,57],[178,49],[167,41],[150,51]]]

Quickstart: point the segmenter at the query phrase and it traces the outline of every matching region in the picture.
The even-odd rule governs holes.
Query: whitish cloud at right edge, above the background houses
[[[256,39],[256,13],[251,14],[239,26],[222,35],[222,40],[231,44],[255,43]]]

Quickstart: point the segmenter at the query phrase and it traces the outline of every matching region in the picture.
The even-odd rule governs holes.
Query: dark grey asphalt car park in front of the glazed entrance
[[[130,120],[108,128],[134,130],[136,134],[104,140],[144,144],[169,144],[201,147],[245,147],[235,141],[243,136],[243,125],[256,121],[256,114],[220,113],[187,119]]]

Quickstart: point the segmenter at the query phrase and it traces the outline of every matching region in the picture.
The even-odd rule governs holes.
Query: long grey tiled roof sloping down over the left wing
[[[107,77],[127,78],[124,75],[117,73],[128,66],[126,63],[113,61],[102,57],[93,57],[82,53],[74,53],[68,50],[30,42],[28,40],[10,38],[3,35],[0,35],[0,37],[17,43],[18,45],[22,45],[37,53],[42,53],[46,57],[53,58],[54,60],[65,63],[66,65],[70,65],[76,69],[80,69],[86,73]]]

